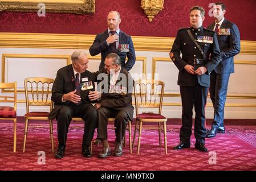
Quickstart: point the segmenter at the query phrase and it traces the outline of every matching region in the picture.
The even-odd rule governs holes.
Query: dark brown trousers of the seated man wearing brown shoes
[[[97,138],[99,139],[108,139],[108,118],[115,118],[116,142],[120,143],[123,140],[129,121],[128,114],[124,110],[110,109],[107,107],[97,109]]]

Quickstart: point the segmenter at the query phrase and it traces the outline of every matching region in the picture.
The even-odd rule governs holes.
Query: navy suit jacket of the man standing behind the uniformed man
[[[213,30],[215,22],[208,28]],[[214,69],[216,73],[234,73],[234,56],[240,52],[240,34],[237,25],[224,19],[220,28],[230,28],[230,35],[217,35],[221,50],[221,62]]]

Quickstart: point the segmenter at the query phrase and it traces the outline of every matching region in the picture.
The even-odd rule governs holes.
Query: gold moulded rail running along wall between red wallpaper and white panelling
[[[96,35],[0,32],[0,47],[89,49]],[[136,51],[169,52],[174,38],[132,36]],[[256,41],[241,41],[241,53],[256,55]]]

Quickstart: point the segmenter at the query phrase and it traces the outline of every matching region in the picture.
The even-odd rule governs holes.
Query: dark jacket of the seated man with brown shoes
[[[101,69],[101,71],[95,73],[95,77],[97,77],[100,73],[106,73],[105,69]],[[123,80],[124,79],[124,80]],[[97,80],[100,82],[102,79]],[[108,83],[107,83],[108,82]],[[108,80],[101,81],[101,86],[107,85],[107,91],[109,91],[109,75]],[[119,77],[116,81],[116,86],[123,86],[127,88],[126,94],[119,94],[119,93],[101,93],[101,100],[100,104],[101,107],[108,107],[115,110],[124,110],[127,114],[129,119],[132,121],[133,118],[133,110],[134,107],[132,106],[132,91],[133,91],[134,81],[132,76],[126,69],[121,67]],[[104,89],[104,88],[102,88]]]

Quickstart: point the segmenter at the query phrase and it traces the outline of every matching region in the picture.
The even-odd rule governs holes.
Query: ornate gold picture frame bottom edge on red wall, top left
[[[43,3],[46,13],[95,13],[95,0],[0,0],[0,12],[38,12]],[[40,4],[40,5],[39,5]]]

